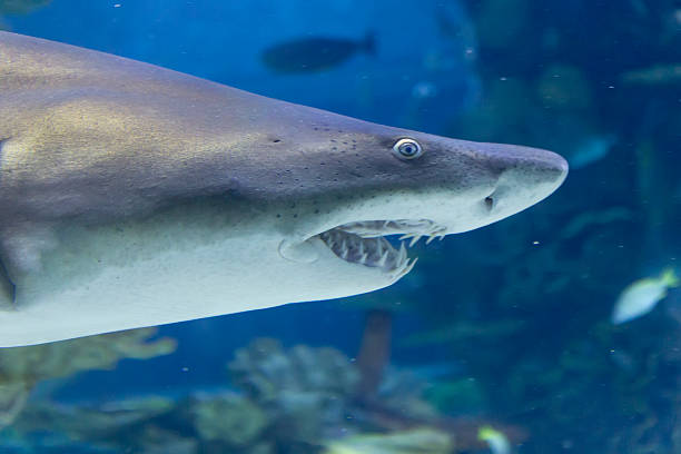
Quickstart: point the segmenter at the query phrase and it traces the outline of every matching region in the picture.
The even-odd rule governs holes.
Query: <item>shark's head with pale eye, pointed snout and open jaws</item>
[[[286,200],[277,213],[285,235],[278,251],[333,270],[322,282],[339,296],[405,276],[416,263],[405,244],[512,216],[552,194],[568,174],[561,156],[542,149],[315,114],[272,131],[272,148],[286,161],[277,162],[274,185]],[[404,241],[395,247],[388,236]]]

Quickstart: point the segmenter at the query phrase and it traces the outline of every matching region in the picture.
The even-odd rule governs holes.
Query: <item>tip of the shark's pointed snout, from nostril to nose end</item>
[[[556,190],[568,176],[568,161],[539,148],[485,144],[490,165],[499,176],[484,204],[496,217],[521,211]]]

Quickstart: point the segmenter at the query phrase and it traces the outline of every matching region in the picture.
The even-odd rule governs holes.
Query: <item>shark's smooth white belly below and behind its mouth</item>
[[[0,312],[0,346],[340,297],[338,278],[364,292],[392,283],[377,286],[376,276],[339,260],[343,269],[292,263],[277,253],[280,236],[261,225],[225,236],[213,223],[61,231],[40,269],[18,282],[16,309]],[[318,257],[333,254],[319,239],[310,247]]]

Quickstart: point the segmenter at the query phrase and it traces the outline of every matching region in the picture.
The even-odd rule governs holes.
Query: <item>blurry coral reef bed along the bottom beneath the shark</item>
[[[68,452],[174,454],[450,454],[480,450],[488,421],[453,420],[424,398],[413,373],[388,367],[371,399],[359,398],[359,369],[343,353],[255,339],[228,364],[239,392],[141,396],[65,405],[29,401],[2,443],[40,438]],[[12,389],[21,402],[22,389]],[[10,393],[8,393],[10,396]],[[12,407],[8,398],[8,407]],[[514,441],[525,435],[504,427]],[[41,446],[40,443],[33,447]],[[90,450],[90,451],[88,451]]]

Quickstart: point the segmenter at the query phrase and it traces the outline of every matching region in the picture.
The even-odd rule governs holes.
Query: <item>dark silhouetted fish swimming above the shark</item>
[[[277,72],[316,72],[334,68],[356,52],[376,53],[374,33],[359,41],[322,37],[286,41],[266,49],[263,61]]]

